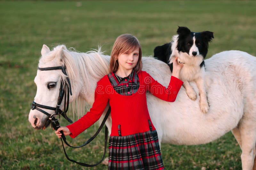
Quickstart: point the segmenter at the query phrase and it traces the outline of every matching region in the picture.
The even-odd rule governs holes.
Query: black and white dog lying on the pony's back
[[[206,113],[209,105],[204,82],[204,58],[208,52],[208,44],[214,38],[213,32],[191,32],[187,27],[179,27],[177,33],[170,43],[154,49],[154,57],[167,63],[171,71],[172,62],[178,57],[178,62],[183,63],[180,79],[184,82],[188,97],[196,100],[196,92],[189,84],[190,81],[195,81],[200,95],[200,109]]]

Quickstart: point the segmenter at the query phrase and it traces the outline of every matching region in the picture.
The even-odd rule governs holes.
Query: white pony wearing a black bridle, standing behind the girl
[[[92,105],[96,83],[108,74],[110,57],[99,52],[77,53],[66,46],[42,48],[39,67],[66,66],[73,95],[73,113],[84,114],[84,105]],[[152,57],[143,57],[143,70],[158,82],[167,86],[171,72],[167,64]],[[173,103],[147,95],[150,117],[158,132],[159,143],[198,145],[211,142],[232,131],[242,149],[242,167],[251,170],[255,158],[256,142],[256,58],[241,51],[225,51],[205,60],[206,89],[210,109],[203,114],[196,101],[188,98],[181,87]],[[61,70],[37,70],[35,102],[56,107],[60,81],[65,75]],[[48,89],[47,85],[55,87]],[[54,84],[55,83],[55,84]],[[198,94],[195,83],[191,83]],[[64,102],[60,109],[63,110]],[[45,110],[45,109],[43,109]],[[45,110],[54,113],[52,110]],[[104,111],[104,117],[106,110]],[[38,110],[30,110],[32,127],[42,129],[48,125],[48,117]],[[106,122],[111,130],[111,117]]]

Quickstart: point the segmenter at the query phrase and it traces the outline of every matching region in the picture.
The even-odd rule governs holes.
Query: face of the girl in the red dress
[[[118,56],[118,70],[132,71],[136,66],[139,59],[139,47],[133,49],[133,51],[126,51]]]

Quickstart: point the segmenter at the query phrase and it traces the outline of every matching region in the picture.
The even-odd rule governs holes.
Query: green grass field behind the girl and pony
[[[100,45],[109,55],[116,37],[131,33],[147,56],[169,42],[179,25],[214,32],[207,57],[234,49],[255,56],[255,7],[256,1],[0,1],[0,169],[90,169],[65,158],[50,128],[36,131],[28,122],[43,44],[65,44],[81,52]],[[81,144],[96,128],[72,144]],[[103,141],[101,133],[87,147],[67,149],[68,154],[96,162]],[[242,168],[241,150],[231,132],[206,145],[163,144],[161,149],[167,170]]]

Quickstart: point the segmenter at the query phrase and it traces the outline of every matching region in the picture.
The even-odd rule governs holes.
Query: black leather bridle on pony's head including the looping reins
[[[62,70],[62,73],[65,74],[67,77],[66,77],[66,81],[63,80],[64,82],[64,86],[65,86],[65,89],[67,90],[67,93],[65,94],[65,89],[64,89],[64,86],[63,86],[63,82],[61,81],[60,82],[60,93],[59,93],[59,97],[58,97],[58,101],[57,101],[57,106],[54,108],[54,107],[50,107],[50,106],[45,106],[45,105],[41,105],[41,104],[38,104],[36,103],[35,101],[32,102],[31,104],[31,110],[38,110],[42,113],[44,113],[45,115],[48,116],[48,119],[51,121],[51,126],[52,128],[55,129],[55,131],[57,129],[60,128],[60,123],[59,123],[59,119],[60,119],[60,115],[62,115],[69,123],[73,123],[72,120],[70,120],[66,113],[68,111],[68,103],[69,103],[69,94],[72,96],[72,91],[71,91],[71,85],[70,85],[70,81],[69,81],[69,78],[68,78],[68,75],[66,73],[66,67],[64,66],[59,66],[59,67],[46,67],[46,68],[40,68],[38,67],[37,68],[38,70],[42,70],[42,71],[47,71],[47,70]],[[68,83],[67,83],[68,82]],[[63,100],[63,97],[64,97],[64,111],[60,110],[60,104]],[[67,101],[67,106],[66,106],[66,101]],[[40,108],[43,108],[43,109],[48,109],[48,110],[55,110],[55,113],[53,114],[49,114],[47,113],[46,111],[40,109]],[[66,158],[71,161],[71,162],[75,162],[79,165],[82,165],[82,166],[87,166],[87,167],[93,167],[93,166],[97,166],[100,164],[100,162],[102,162],[102,160],[104,159],[105,157],[105,154],[106,154],[106,149],[107,149],[107,143],[108,143],[108,127],[105,125],[105,146],[104,146],[104,154],[103,154],[103,157],[102,159],[96,163],[96,164],[93,164],[93,165],[90,165],[90,164],[86,164],[86,163],[82,163],[82,162],[76,162],[75,160],[73,159],[70,159],[66,153],[66,150],[65,150],[65,147],[64,147],[64,144],[63,144],[63,141],[66,145],[68,145],[69,147],[73,147],[73,148],[80,148],[80,147],[83,147],[87,144],[89,144],[100,132],[100,130],[102,129],[102,127],[104,126],[105,122],[107,121],[108,119],[108,116],[110,114],[110,107],[108,108],[108,111],[102,121],[102,123],[100,124],[100,127],[98,129],[98,131],[96,131],[96,133],[89,139],[87,140],[83,145],[80,145],[80,146],[71,146],[68,144],[67,140],[66,140],[66,137],[65,135],[63,134],[62,131],[61,132],[61,143],[62,143],[62,147],[63,147],[63,151],[64,151],[64,154],[66,156]],[[54,115],[59,115],[59,118],[55,118]],[[63,141],[62,141],[63,139]]]

